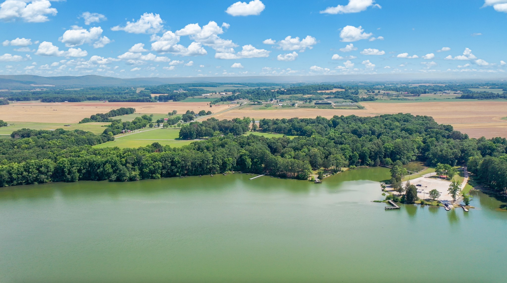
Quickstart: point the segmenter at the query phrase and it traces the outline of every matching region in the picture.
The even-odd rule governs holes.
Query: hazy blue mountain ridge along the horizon
[[[187,77],[187,78],[132,78],[120,79],[97,75],[42,77],[34,75],[0,75],[0,89],[23,90],[33,89],[42,85],[55,87],[91,87],[91,86],[150,86],[174,83],[340,83],[340,82],[400,82],[400,81],[492,81],[507,79],[503,77],[483,79],[476,76],[463,77],[462,74],[374,74],[374,75],[329,75],[329,76],[258,76],[258,77]],[[458,77],[459,76],[459,77]]]

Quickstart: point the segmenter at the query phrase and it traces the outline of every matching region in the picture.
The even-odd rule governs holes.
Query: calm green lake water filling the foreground
[[[0,282],[506,282],[507,211],[384,210],[386,168],[0,191]]]

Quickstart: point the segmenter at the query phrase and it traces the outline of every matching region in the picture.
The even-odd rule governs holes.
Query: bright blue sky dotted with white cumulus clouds
[[[507,0],[0,0],[0,75],[505,77]]]

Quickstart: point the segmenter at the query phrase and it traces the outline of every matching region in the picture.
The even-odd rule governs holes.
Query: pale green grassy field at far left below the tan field
[[[34,129],[34,130],[52,130],[62,128],[64,130],[83,130],[90,131],[95,134],[100,134],[104,131],[103,125],[109,123],[85,123],[85,124],[71,124],[70,127],[64,127],[64,123],[38,123],[38,122],[8,122],[11,125],[8,127],[0,127],[0,134],[11,134],[15,130],[22,128]]]

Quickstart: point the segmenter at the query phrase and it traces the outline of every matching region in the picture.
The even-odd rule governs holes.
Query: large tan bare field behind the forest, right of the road
[[[507,101],[452,101],[452,102],[411,102],[382,103],[361,102],[366,109],[282,109],[282,110],[231,110],[214,116],[217,119],[241,118],[331,118],[334,115],[377,116],[381,114],[410,113],[433,117],[438,123],[451,124],[456,130],[470,137],[507,137]]]

